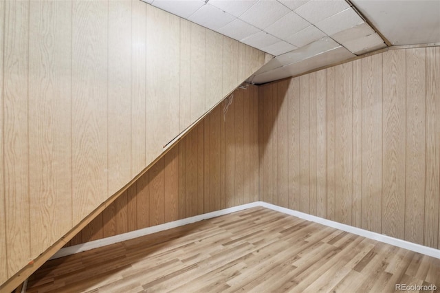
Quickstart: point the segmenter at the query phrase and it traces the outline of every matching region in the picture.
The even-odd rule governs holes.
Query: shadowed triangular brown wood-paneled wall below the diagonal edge
[[[234,91],[67,246],[258,201],[258,94]]]

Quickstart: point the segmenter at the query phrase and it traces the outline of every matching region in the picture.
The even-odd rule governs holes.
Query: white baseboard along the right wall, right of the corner
[[[336,228],[339,230],[353,233],[355,235],[359,235],[359,236],[366,237],[369,239],[388,243],[393,246],[405,248],[407,250],[419,252],[422,254],[429,255],[430,257],[435,257],[437,259],[440,259],[440,250],[435,249],[435,248],[430,248],[428,246],[422,246],[417,243],[412,243],[409,241],[405,241],[405,240],[397,239],[394,237],[382,235],[382,234],[379,234],[376,232],[371,232],[369,230],[364,230],[364,229],[356,228],[356,227],[349,226],[346,224],[341,224],[341,223],[338,223],[337,221],[331,221],[328,219],[323,219],[321,217],[316,217],[316,216],[309,215],[306,213],[301,213],[301,212],[298,212],[298,210],[290,210],[289,208],[283,208],[281,206],[276,206],[274,204],[267,204],[267,202],[259,202],[259,205],[264,206],[265,208],[270,208],[272,210],[276,210],[281,213],[285,213],[287,215],[292,215],[292,216],[295,216],[295,217],[298,217],[301,219],[305,219],[307,221],[314,221],[315,223],[318,223],[318,224],[333,227],[333,228]]]

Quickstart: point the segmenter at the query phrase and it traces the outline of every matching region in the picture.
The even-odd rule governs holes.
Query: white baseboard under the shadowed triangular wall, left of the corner
[[[89,241],[89,242],[86,242],[83,244],[78,244],[75,246],[61,248],[61,250],[58,250],[58,252],[56,252],[56,254],[54,254],[49,260],[58,259],[60,257],[67,257],[67,255],[75,254],[78,252],[83,252],[86,250],[91,250],[94,248],[107,246],[107,245],[110,245],[113,243],[118,243],[118,242],[126,241],[129,239],[141,237],[144,235],[152,234],[155,232],[160,232],[163,230],[168,230],[168,229],[176,228],[179,226],[184,226],[187,224],[195,223],[196,221],[202,221],[204,219],[210,219],[213,217],[219,217],[221,215],[227,215],[230,213],[238,212],[239,210],[245,210],[247,208],[254,208],[256,206],[260,206],[259,202],[251,202],[250,204],[243,204],[241,206],[234,206],[232,208],[225,208],[223,210],[216,210],[214,212],[206,213],[203,215],[197,215],[194,217],[179,219],[177,221],[170,221],[168,223],[160,224],[160,225],[153,226],[153,227],[143,228],[140,230],[126,232],[126,233],[123,233],[120,235],[115,235],[115,236],[111,236],[111,237],[107,237],[107,238],[103,238],[103,239]]]

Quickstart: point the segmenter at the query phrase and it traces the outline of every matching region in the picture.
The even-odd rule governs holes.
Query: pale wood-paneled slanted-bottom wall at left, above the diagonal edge
[[[0,34],[0,284],[270,57],[138,0],[0,1]]]

